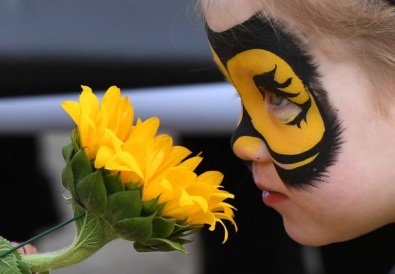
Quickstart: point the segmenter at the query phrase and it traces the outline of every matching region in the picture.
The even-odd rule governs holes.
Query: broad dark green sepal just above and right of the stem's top
[[[104,218],[111,224],[115,224],[124,219],[139,217],[140,212],[140,191],[127,190],[109,196]]]

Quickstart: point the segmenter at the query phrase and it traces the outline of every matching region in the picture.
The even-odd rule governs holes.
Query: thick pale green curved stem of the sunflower
[[[92,213],[87,212],[76,221],[76,226],[76,237],[68,248],[23,256],[23,260],[30,263],[30,271],[44,272],[76,264],[117,238],[110,224]]]

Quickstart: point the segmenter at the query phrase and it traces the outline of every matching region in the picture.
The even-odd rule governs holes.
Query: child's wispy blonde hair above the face
[[[197,1],[203,15],[214,2],[223,7],[228,2]],[[361,66],[373,87],[377,112],[388,116],[389,105],[395,103],[395,5],[386,0],[255,1],[262,17],[281,18],[307,47],[320,41],[327,54]]]

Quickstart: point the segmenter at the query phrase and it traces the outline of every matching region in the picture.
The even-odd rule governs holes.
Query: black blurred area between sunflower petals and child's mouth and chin
[[[225,174],[222,185],[235,194],[228,202],[238,209],[237,233],[224,221],[229,231],[225,244],[221,224],[214,231],[202,230],[204,273],[304,273],[301,246],[285,233],[280,214],[263,204],[252,175],[230,149],[230,136],[184,136],[182,145],[194,155],[203,151],[197,174],[208,170]]]

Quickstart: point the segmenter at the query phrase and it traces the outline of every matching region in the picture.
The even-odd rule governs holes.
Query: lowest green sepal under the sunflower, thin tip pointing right
[[[178,250],[185,254],[190,254],[182,244],[163,238],[154,238],[144,242],[136,241],[134,242],[133,247],[138,252]]]

